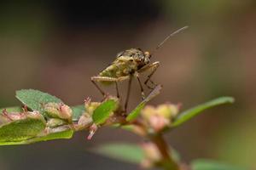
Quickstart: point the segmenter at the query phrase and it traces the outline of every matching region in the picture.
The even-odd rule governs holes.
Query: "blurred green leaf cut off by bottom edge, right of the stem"
[[[234,167],[218,161],[204,159],[192,161],[191,167],[192,170],[248,170],[244,167]]]

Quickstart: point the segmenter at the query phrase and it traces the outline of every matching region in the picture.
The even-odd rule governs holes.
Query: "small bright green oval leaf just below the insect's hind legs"
[[[118,107],[118,101],[108,99],[99,105],[93,112],[92,120],[96,125],[104,123]]]

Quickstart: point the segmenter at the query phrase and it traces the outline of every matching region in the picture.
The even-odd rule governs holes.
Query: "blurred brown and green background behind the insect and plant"
[[[15,90],[21,88],[54,94],[68,105],[81,104],[88,96],[100,100],[90,77],[119,51],[153,50],[183,26],[189,29],[172,37],[152,58],[161,63],[154,82],[164,88],[151,104],[181,102],[187,109],[223,95],[234,96],[236,104],[207,111],[166,139],[185,162],[204,157],[256,168],[253,0],[1,1],[0,107],[20,105]],[[130,109],[139,100],[134,81]],[[0,169],[138,169],[86,151],[112,141],[141,142],[136,135],[108,128],[91,141],[86,135],[1,146]]]

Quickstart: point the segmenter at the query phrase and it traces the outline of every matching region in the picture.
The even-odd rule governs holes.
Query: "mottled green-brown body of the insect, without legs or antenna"
[[[131,48],[119,53],[113,63],[100,73],[100,76],[125,77],[138,71],[148,63],[148,56],[141,49]]]

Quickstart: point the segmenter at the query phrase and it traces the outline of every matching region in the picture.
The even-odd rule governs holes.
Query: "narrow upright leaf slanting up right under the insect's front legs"
[[[161,88],[161,85],[156,86],[154,90],[148,95],[148,97],[144,99],[139,105],[137,105],[137,107],[133,111],[131,111],[131,113],[126,117],[126,121],[131,122],[135,120],[143,110],[144,106],[148,103],[148,101],[153,99],[156,95],[160,94]]]

